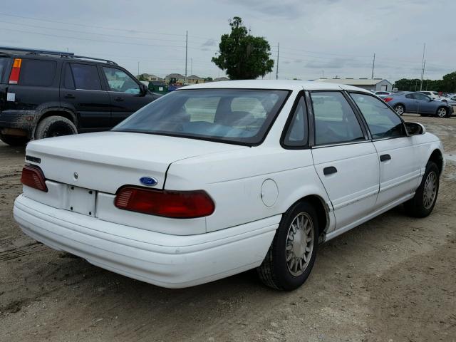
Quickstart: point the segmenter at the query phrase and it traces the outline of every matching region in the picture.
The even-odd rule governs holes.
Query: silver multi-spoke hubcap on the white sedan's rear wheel
[[[286,265],[294,276],[304,273],[314,249],[314,223],[306,212],[291,222],[286,238]]]

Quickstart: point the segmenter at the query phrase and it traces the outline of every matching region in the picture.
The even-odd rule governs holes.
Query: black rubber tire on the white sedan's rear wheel
[[[297,217],[304,217],[307,220],[307,225],[304,224],[304,229],[293,229],[294,220]],[[309,225],[310,224],[310,225]],[[311,227],[311,231],[308,234],[304,234],[306,229]],[[299,236],[296,237],[300,231]],[[294,233],[293,233],[294,232]],[[311,234],[313,233],[313,234]],[[293,274],[292,270],[295,264],[291,266],[291,259],[296,260],[291,256],[291,253],[294,254],[294,247],[287,248],[292,246],[290,242],[289,234],[292,234],[293,241],[296,237],[297,241],[301,241],[302,238],[305,239],[305,244],[299,244],[302,249],[300,252],[304,252],[302,257],[308,260],[306,264],[296,264],[303,265],[302,269],[299,271],[296,269],[296,274]],[[291,291],[297,289],[299,286],[304,284],[304,281],[311,274],[311,270],[314,267],[316,251],[318,247],[318,219],[314,207],[308,202],[298,202],[293,205],[290,209],[286,211],[284,216],[281,219],[279,228],[276,230],[274,240],[272,241],[271,247],[266,254],[261,266],[257,268],[257,273],[261,281],[267,286],[270,286],[274,289],[287,290]],[[309,248],[309,251],[307,249]],[[307,254],[307,255],[306,255]],[[287,259],[290,257],[289,261]],[[304,260],[304,259],[302,259]],[[297,261],[296,261],[297,262]],[[305,261],[304,261],[305,262]],[[305,267],[304,267],[305,265]],[[296,266],[298,267],[298,266]]]

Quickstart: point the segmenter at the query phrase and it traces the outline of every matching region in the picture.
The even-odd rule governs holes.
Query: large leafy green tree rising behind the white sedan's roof
[[[220,38],[219,53],[212,57],[219,68],[225,70],[232,80],[255,79],[270,73],[274,67],[271,46],[263,37],[252,36],[235,16],[229,21],[231,33]]]

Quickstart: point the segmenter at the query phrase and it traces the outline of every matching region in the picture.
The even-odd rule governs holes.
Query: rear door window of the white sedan
[[[312,92],[316,145],[364,140],[363,131],[347,100],[339,92]]]

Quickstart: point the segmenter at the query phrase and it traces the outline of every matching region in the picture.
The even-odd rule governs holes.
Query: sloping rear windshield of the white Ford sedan
[[[113,130],[255,145],[263,140],[287,90],[176,90]]]

